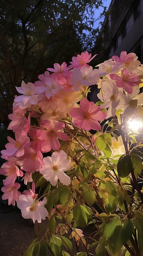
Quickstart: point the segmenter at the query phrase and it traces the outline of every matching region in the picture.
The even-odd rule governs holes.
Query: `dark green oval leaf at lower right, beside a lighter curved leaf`
[[[132,221],[126,220],[121,229],[121,241],[123,244],[127,243],[127,241],[130,239],[133,230],[134,227]]]

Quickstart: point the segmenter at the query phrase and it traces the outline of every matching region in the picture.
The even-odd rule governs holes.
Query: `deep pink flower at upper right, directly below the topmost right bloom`
[[[115,81],[117,87],[123,88],[126,92],[132,93],[132,87],[139,85],[140,76],[128,72],[125,68],[121,70],[121,76],[110,74],[110,78]]]

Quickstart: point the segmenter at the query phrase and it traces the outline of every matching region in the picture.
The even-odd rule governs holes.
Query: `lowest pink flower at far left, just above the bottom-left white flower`
[[[4,194],[2,195],[2,200],[8,199],[8,204],[15,205],[15,201],[18,202],[18,198],[21,195],[20,191],[18,189],[20,188],[19,183],[10,183],[6,185],[6,180],[3,180],[4,186],[1,188],[2,192]]]

